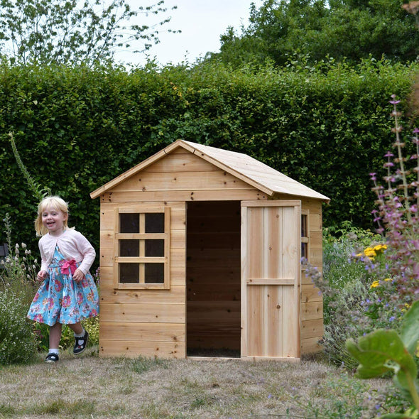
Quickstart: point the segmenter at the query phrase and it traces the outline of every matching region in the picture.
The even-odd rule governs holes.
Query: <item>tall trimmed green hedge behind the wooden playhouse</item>
[[[70,224],[96,247],[99,200],[89,192],[178,138],[248,153],[322,192],[332,200],[325,225],[371,227],[369,172],[393,141],[388,100],[407,97],[415,70],[374,60],[357,71],[3,65],[0,217],[9,212],[14,239],[36,249],[37,202],[11,152],[14,131],[28,171],[70,202]]]

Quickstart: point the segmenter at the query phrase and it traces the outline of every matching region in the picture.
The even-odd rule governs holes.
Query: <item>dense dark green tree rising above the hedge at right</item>
[[[304,55],[311,62],[327,58],[359,62],[372,56],[415,60],[419,33],[415,16],[401,0],[266,0],[252,4],[250,24],[236,35],[221,37],[221,50],[212,58],[232,65],[273,60],[285,65]]]

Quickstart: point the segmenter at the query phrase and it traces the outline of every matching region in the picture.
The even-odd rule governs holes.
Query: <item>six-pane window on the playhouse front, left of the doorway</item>
[[[115,232],[115,288],[170,288],[170,208],[118,208]]]

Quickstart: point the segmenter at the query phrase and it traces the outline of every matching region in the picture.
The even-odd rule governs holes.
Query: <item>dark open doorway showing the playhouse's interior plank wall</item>
[[[240,201],[187,203],[186,281],[187,354],[239,356]]]

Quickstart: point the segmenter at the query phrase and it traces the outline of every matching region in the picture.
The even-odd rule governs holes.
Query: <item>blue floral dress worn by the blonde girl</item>
[[[31,307],[28,318],[49,326],[59,322],[74,325],[80,320],[95,317],[99,313],[99,295],[92,275],[86,273],[80,283],[72,279],[70,269],[62,273],[65,257],[58,246],[55,246],[53,260],[48,266],[49,276],[40,285]],[[78,267],[80,263],[77,263]]]

